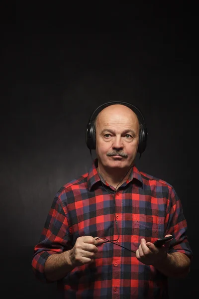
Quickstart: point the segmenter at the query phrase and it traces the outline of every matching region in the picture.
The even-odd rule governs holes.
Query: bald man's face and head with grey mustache
[[[139,144],[139,122],[123,105],[103,109],[96,122],[96,153],[105,168],[127,168],[135,159]]]

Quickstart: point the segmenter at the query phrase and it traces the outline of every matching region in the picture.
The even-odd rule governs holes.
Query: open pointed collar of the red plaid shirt
[[[107,186],[108,183],[103,179],[103,177],[98,173],[97,171],[97,167],[98,167],[98,159],[96,158],[92,164],[92,167],[89,170],[88,173],[88,189],[89,191],[91,191],[91,188],[98,182],[100,182],[100,180]],[[139,172],[139,170],[137,169],[137,167],[135,165],[133,165],[131,172],[129,174],[129,177],[127,178],[125,184],[128,184],[129,182],[131,182],[133,179],[138,180],[142,183],[143,185],[143,180],[142,180],[142,175]]]

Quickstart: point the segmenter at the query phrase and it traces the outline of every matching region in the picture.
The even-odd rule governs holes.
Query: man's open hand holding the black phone
[[[166,235],[169,237],[171,235]],[[160,261],[167,259],[167,253],[170,241],[166,242],[161,248],[157,248],[153,243],[141,239],[140,246],[136,250],[136,258],[145,265],[156,266]]]

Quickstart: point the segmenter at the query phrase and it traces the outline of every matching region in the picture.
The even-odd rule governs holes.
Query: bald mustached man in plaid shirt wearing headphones
[[[33,271],[57,281],[69,299],[168,298],[167,278],[185,277],[192,257],[180,199],[134,164],[147,140],[139,109],[109,102],[96,111],[87,146],[97,159],[56,194]],[[171,235],[162,247],[153,244]]]

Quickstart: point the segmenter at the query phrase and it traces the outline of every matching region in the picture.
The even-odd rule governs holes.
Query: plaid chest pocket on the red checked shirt
[[[132,243],[138,247],[141,239],[146,242],[154,242],[158,238],[160,229],[160,218],[157,216],[133,214]]]

